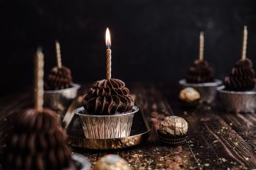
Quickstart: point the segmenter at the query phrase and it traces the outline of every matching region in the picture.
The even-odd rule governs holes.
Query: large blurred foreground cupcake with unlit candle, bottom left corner
[[[57,114],[43,108],[43,63],[43,53],[38,50],[35,108],[23,111],[14,119],[1,163],[4,169],[90,169],[87,159],[71,154]]]

